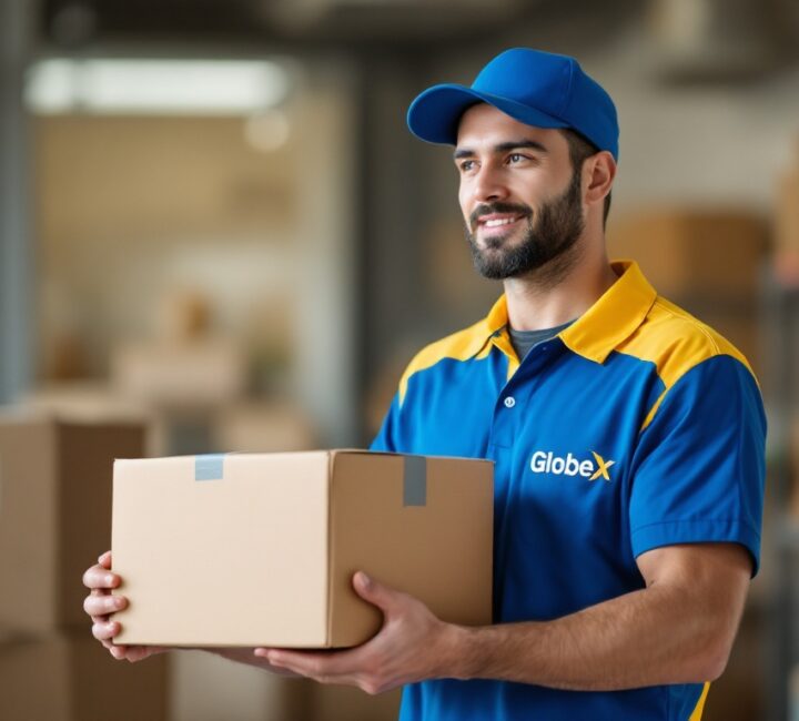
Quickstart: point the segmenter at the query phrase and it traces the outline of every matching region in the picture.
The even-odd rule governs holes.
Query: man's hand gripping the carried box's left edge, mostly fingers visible
[[[111,571],[111,551],[105,551],[98,565],[92,566],[83,573],[83,586],[91,589],[91,593],[83,601],[83,610],[91,617],[92,634],[98,639],[118,661],[141,661],[154,653],[163,653],[165,648],[160,646],[118,646],[113,642],[122,627],[118,621],[110,620],[117,611],[128,607],[124,596],[111,596],[122,579]]]

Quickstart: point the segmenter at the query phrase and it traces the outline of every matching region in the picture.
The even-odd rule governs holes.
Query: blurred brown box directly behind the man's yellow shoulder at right
[[[638,262],[665,297],[726,336],[760,367],[760,286],[768,224],[739,211],[659,210],[616,219],[614,258]]]

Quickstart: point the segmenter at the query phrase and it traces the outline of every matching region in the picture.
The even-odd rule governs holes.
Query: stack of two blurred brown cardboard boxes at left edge
[[[91,638],[81,577],[110,547],[114,458],[140,424],[0,416],[0,718],[165,718],[165,659],[118,664]]]

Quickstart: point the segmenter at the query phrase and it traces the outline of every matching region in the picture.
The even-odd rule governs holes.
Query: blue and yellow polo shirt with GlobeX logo
[[[504,296],[423,349],[372,448],[495,461],[495,622],[548,620],[644,588],[672,544],[760,549],[766,418],[746,358],[635,263],[519,364]],[[405,688],[402,720],[695,721],[708,684],[569,692],[503,681]]]

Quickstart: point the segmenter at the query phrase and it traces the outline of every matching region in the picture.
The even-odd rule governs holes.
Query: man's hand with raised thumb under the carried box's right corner
[[[321,683],[356,686],[383,693],[405,683],[456,678],[457,626],[437,619],[422,601],[383,586],[360,571],[353,586],[361,598],[383,611],[383,627],[364,644],[344,651],[255,649],[255,656]]]

